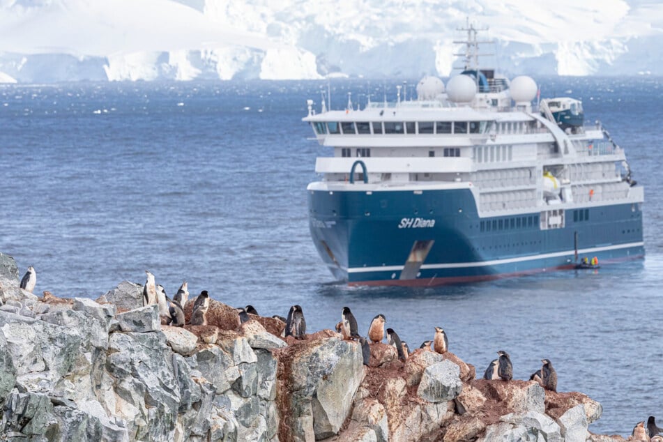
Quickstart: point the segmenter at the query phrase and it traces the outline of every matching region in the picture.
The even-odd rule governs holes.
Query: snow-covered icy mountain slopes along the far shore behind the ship
[[[0,82],[663,75],[659,0],[0,0]]]

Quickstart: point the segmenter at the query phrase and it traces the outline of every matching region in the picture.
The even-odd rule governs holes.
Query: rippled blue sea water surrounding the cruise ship
[[[549,358],[558,390],[602,403],[590,431],[627,435],[663,420],[663,78],[536,80],[543,98],[581,98],[625,148],[645,186],[645,259],[427,289],[339,284],[307,224],[305,188],[330,155],[301,121],[327,90],[315,81],[1,85],[0,252],[36,268],[36,294],[96,299],[150,270],[169,295],[187,280],[264,316],[300,304],[309,331],[346,305],[360,332],[381,313],[411,349],[442,326],[478,374],[501,349],[517,379]],[[349,91],[395,100],[395,84],[335,80],[332,107]]]

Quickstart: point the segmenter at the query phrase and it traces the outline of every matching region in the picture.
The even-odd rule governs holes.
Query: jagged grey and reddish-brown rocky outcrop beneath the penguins
[[[185,305],[190,317],[195,298]],[[0,439],[34,441],[595,441],[598,402],[475,379],[452,353],[283,323],[211,300],[208,325],[161,324],[142,286],[96,301],[18,287],[0,254]]]

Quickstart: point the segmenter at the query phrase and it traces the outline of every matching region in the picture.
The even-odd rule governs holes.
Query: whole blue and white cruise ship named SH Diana
[[[531,77],[478,65],[467,26],[464,70],[417,96],[307,101],[326,153],[307,187],[310,231],[337,280],[428,286],[580,268],[644,256],[643,187],[582,103],[540,99]],[[318,112],[317,112],[318,111]]]

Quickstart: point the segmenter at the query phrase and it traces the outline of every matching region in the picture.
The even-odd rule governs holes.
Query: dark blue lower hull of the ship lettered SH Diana
[[[541,229],[539,211],[480,218],[468,189],[312,190],[308,205],[320,256],[349,284],[469,282],[644,255],[639,204],[568,208],[556,229]],[[425,259],[407,263],[416,243]]]

